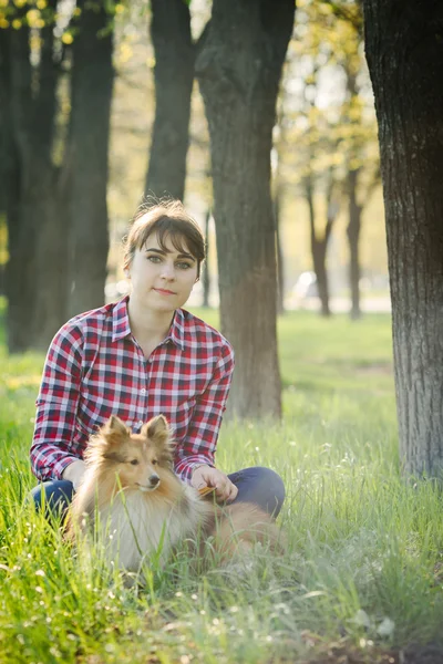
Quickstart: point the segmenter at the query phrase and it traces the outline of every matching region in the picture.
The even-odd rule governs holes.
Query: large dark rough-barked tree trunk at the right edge
[[[443,469],[443,4],[365,0],[404,471]]]

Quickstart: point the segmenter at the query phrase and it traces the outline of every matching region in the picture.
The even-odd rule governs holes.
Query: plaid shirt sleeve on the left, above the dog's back
[[[43,481],[61,479],[79,457],[70,452],[80,398],[82,334],[69,323],[54,336],[37,398],[30,457],[32,473]]]

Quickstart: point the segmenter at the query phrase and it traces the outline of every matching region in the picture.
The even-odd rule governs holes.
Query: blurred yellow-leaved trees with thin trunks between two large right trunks
[[[357,319],[361,315],[362,212],[380,187],[377,123],[358,2],[298,2],[281,92],[279,144],[282,177],[286,174],[308,208],[312,269],[323,315],[331,312],[328,247],[340,211],[347,219],[350,313]]]

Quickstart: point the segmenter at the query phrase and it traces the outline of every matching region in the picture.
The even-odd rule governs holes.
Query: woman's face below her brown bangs
[[[145,246],[135,250],[126,270],[132,282],[131,299],[158,312],[183,307],[197,279],[197,260],[187,251],[177,251],[167,236],[163,243],[166,251],[156,235],[150,236]]]

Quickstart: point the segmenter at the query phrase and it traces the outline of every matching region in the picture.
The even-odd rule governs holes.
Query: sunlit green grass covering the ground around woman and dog
[[[0,349],[0,662],[265,664],[332,643],[375,662],[441,639],[441,497],[399,473],[389,318],[291,313],[279,336],[284,421],[225,424],[217,463],[281,474],[287,554],[198,575],[181,551],[143,591],[25,504],[43,357]]]

